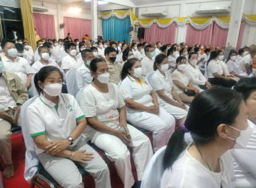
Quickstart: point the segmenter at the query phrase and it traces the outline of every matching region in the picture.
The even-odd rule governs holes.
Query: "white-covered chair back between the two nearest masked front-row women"
[[[65,74],[67,92],[73,95],[74,97],[79,91],[77,88],[75,73],[76,73],[76,68],[72,68],[71,70],[67,71],[67,73]]]

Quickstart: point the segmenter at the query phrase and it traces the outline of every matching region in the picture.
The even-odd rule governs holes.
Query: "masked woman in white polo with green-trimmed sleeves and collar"
[[[61,187],[84,187],[75,164],[95,179],[96,187],[111,187],[108,167],[81,139],[86,118],[72,95],[61,93],[63,75],[44,66],[34,79],[38,97],[27,109],[30,134],[44,169]]]

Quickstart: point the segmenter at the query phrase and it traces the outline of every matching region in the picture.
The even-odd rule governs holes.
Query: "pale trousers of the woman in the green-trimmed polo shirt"
[[[86,152],[92,152],[94,158],[88,160],[87,164],[82,162],[75,162],[69,158],[46,154],[43,152],[38,155],[40,162],[44,169],[55,179],[61,187],[64,188],[84,188],[82,176],[79,173],[75,163],[83,167],[92,177],[95,179],[97,188],[110,188],[110,173],[106,162],[101,156],[82,139],[73,147],[68,147],[68,150],[86,150]]]

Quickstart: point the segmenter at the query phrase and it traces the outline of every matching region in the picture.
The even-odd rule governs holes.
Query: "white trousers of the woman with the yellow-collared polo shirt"
[[[175,118],[162,107],[159,109],[158,115],[146,111],[137,111],[127,115],[127,121],[133,126],[153,133],[154,152],[166,146],[175,128]]]

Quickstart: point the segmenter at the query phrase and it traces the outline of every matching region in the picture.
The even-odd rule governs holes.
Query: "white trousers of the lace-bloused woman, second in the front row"
[[[138,180],[141,181],[143,173],[146,170],[148,162],[153,155],[150,140],[142,132],[127,124],[131,135],[131,144],[133,148],[133,160],[135,163]],[[127,146],[110,134],[97,134],[94,138],[94,144],[104,150],[109,160],[115,162],[115,167],[119,177],[123,181],[125,188],[131,188],[134,184],[133,174],[131,173],[130,152]]]

